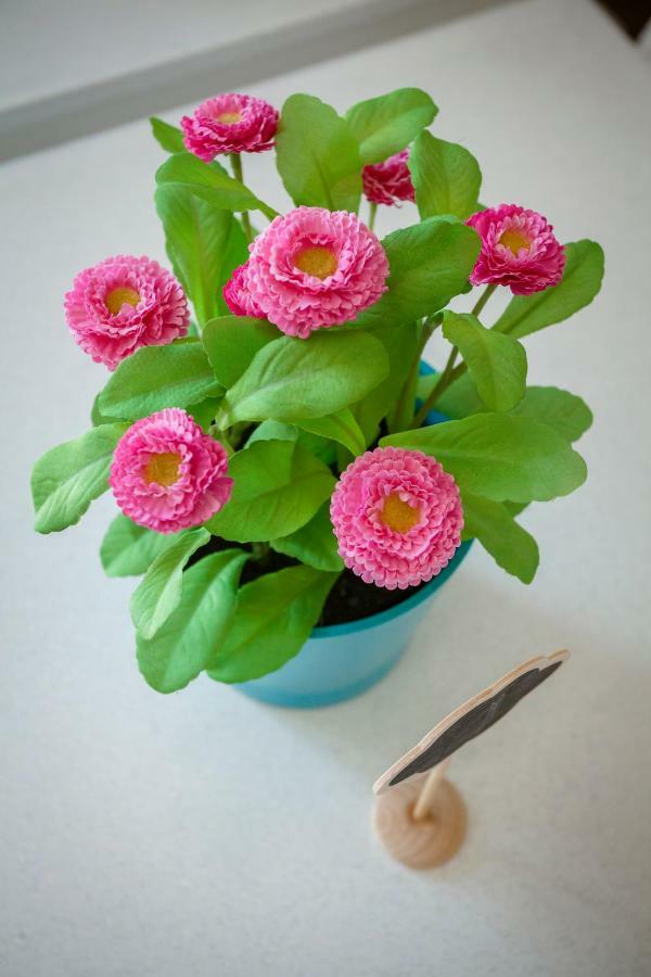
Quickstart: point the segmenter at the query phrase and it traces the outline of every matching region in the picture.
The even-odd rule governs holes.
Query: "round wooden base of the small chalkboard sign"
[[[423,787],[421,777],[406,781],[375,798],[373,824],[394,859],[410,868],[435,868],[449,861],[465,837],[468,814],[463,798],[449,781],[442,781],[430,815],[413,817],[413,807]]]

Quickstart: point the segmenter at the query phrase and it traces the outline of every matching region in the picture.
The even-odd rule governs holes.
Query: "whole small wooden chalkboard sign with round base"
[[[374,825],[384,847],[411,868],[443,865],[465,837],[468,815],[445,778],[452,753],[480,736],[537,688],[569,657],[557,651],[513,669],[469,699],[424,736],[375,782]]]

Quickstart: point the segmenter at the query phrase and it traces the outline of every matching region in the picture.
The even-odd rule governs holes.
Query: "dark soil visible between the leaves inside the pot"
[[[221,549],[228,549],[237,545],[239,544],[227,543],[218,536],[212,536],[209,542],[191,557],[190,564],[195,563],[210,553],[219,553]],[[244,544],[242,549],[251,551],[252,546]],[[271,549],[263,560],[252,559],[245,563],[241,582],[243,584],[250,583],[265,573],[275,573],[277,570],[284,570],[285,567],[296,566],[298,566],[298,560],[275,553]],[[388,610],[388,608],[401,604],[411,594],[420,591],[422,586],[423,584],[419,584],[416,587],[408,587],[406,591],[397,588],[387,591],[385,587],[366,584],[350,570],[344,570],[330,592],[317,623],[319,625],[344,624],[347,621],[359,621],[361,618],[370,618],[371,614],[378,614],[380,611]]]

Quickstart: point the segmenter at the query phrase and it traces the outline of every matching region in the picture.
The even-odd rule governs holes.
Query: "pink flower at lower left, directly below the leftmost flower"
[[[136,421],[117,443],[108,482],[129,519],[158,533],[199,525],[230,498],[226,449],[178,407]]]

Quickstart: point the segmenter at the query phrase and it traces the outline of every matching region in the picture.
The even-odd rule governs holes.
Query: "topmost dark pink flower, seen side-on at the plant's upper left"
[[[184,115],[181,129],[187,149],[209,163],[222,153],[261,153],[273,148],[278,112],[251,96],[215,96]]]

